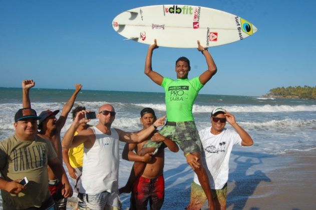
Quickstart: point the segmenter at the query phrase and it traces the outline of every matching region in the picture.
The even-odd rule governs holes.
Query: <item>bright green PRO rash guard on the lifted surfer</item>
[[[168,121],[193,121],[192,107],[199,90],[204,86],[199,77],[173,80],[163,78]]]

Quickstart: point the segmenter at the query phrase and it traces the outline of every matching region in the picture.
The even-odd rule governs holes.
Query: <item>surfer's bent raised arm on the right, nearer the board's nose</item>
[[[202,54],[205,56],[206,59],[206,63],[207,63],[207,70],[204,71],[199,79],[200,82],[202,84],[205,84],[206,82],[208,82],[208,80],[210,80],[212,78],[212,76],[217,72],[217,67],[216,64],[213,60],[213,57],[211,56],[211,54],[209,53],[207,48],[204,48],[201,44],[200,41],[197,41],[197,50],[199,50],[200,52],[202,52]]]

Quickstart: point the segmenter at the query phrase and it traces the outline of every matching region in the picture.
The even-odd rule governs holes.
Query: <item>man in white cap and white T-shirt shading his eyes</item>
[[[203,145],[202,162],[207,168],[215,209],[226,209],[229,156],[233,145],[251,146],[251,136],[236,122],[234,115],[222,107],[211,112],[211,126],[199,131]],[[225,128],[226,121],[235,129]],[[205,193],[194,174],[191,184],[191,201],[187,209],[200,209],[206,200]]]

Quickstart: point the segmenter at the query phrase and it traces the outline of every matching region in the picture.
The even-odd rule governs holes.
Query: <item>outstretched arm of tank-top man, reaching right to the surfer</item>
[[[139,143],[145,140],[145,138],[147,138],[158,126],[162,126],[165,123],[165,118],[166,116],[158,118],[154,122],[153,126],[149,126],[146,129],[143,129],[139,132],[126,132],[121,129],[115,129],[118,132],[121,141],[127,143]],[[154,127],[154,125],[156,127]]]

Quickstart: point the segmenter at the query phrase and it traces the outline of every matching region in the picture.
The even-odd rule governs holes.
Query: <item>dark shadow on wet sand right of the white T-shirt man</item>
[[[234,158],[237,166],[233,172],[229,173],[228,182],[234,182],[235,187],[227,194],[227,208],[233,206],[232,209],[243,209],[247,199],[254,193],[258,184],[261,181],[271,181],[260,169],[255,170],[253,174],[247,174],[247,170],[254,165],[261,164],[263,158],[271,158],[274,155],[240,151],[233,151],[232,153],[237,155]]]

